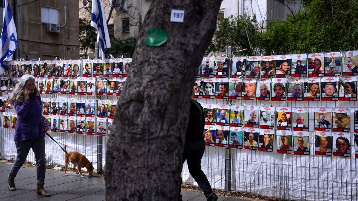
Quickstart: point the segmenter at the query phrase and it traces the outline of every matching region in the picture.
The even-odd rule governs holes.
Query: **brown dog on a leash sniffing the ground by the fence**
[[[66,150],[66,144],[65,144],[65,150]],[[66,150],[67,151],[67,150]],[[73,164],[73,172],[76,171],[76,166],[79,172],[79,175],[83,178],[81,168],[85,167],[88,171],[89,175],[92,175],[93,170],[95,169],[91,162],[89,162],[86,158],[86,156],[82,155],[81,153],[78,153],[77,151],[69,151],[68,154],[76,160],[79,164],[74,162],[72,158],[70,158],[67,154],[65,155],[65,176],[67,176],[66,169],[68,166],[68,163],[71,162]]]

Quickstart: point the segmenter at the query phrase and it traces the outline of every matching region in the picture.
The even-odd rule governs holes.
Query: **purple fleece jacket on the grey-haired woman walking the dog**
[[[15,112],[18,119],[15,125],[14,141],[24,141],[45,137],[43,127],[47,127],[42,117],[42,101],[39,96],[30,94],[30,99],[22,103],[14,100]]]

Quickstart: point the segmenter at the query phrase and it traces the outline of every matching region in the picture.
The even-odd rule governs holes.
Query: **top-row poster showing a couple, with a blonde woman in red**
[[[324,53],[311,53],[307,57],[308,77],[323,77]]]

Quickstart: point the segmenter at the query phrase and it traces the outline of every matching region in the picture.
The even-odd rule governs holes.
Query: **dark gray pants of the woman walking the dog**
[[[16,160],[14,161],[13,167],[11,167],[9,177],[16,177],[21,166],[23,166],[25,163],[30,148],[32,148],[32,151],[34,151],[35,153],[35,159],[37,164],[37,183],[44,183],[46,173],[45,137],[18,141],[15,142],[15,146],[18,155]]]

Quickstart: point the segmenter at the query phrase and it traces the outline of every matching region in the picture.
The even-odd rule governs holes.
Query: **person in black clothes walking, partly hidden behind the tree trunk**
[[[192,98],[194,97],[194,88]],[[204,108],[196,100],[190,99],[190,116],[187,133],[185,134],[185,145],[183,152],[183,164],[185,160],[188,163],[190,175],[199,184],[204,191],[204,195],[209,201],[216,201],[218,196],[211,189],[208,178],[201,170],[200,163],[205,151],[204,131]],[[180,180],[181,181],[181,180]],[[181,182],[180,182],[181,184]],[[182,201],[179,185],[178,201]]]

